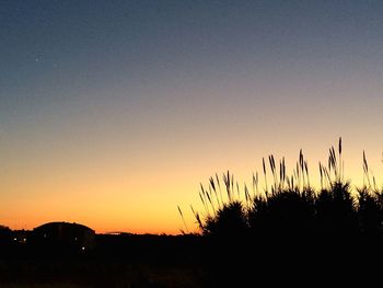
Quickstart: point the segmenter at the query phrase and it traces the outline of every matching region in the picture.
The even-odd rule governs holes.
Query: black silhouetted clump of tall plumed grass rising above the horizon
[[[258,188],[258,173],[253,175],[253,195],[246,184],[243,193],[229,171],[210,177],[208,188],[201,184],[199,197],[205,217],[193,208],[200,231],[220,237],[251,234],[255,238],[285,237],[306,239],[326,235],[350,237],[359,233],[381,234],[383,222],[383,192],[371,185],[369,168],[363,152],[364,178],[369,186],[351,193],[344,181],[343,146],[329,149],[327,166],[320,163],[321,189],[310,183],[309,164],[302,150],[291,176],[287,175],[285,158],[276,164],[274,155],[263,159],[265,188]],[[272,183],[268,186],[268,177]],[[227,199],[222,197],[221,183]],[[242,197],[241,197],[242,196]],[[181,211],[179,211],[181,212]],[[182,212],[181,212],[182,214]]]

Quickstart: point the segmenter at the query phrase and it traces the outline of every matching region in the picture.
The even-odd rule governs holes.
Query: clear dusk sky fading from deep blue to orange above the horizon
[[[178,233],[199,183],[343,137],[383,172],[382,1],[0,2],[0,223]],[[289,168],[291,168],[289,170]],[[315,176],[314,176],[315,177]]]

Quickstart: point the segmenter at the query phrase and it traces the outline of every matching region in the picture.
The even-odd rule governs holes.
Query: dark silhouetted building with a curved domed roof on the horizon
[[[94,247],[95,233],[91,228],[68,222],[49,222],[35,228],[33,231],[35,244],[47,247],[67,247],[91,250]]]

